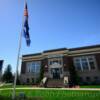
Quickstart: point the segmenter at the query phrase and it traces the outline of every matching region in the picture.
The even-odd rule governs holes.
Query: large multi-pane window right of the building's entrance
[[[76,70],[93,70],[96,68],[94,56],[81,56],[74,58],[74,65]]]

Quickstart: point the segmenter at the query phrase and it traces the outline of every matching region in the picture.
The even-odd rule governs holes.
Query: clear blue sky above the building
[[[100,44],[100,0],[27,0],[30,47],[21,55]],[[24,0],[0,0],[0,59],[15,72]],[[20,61],[21,62],[21,61]],[[19,66],[20,69],[20,66]]]

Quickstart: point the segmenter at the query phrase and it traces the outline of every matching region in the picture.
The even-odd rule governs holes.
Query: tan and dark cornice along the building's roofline
[[[79,55],[97,54],[97,53],[100,53],[100,45],[86,46],[86,47],[72,48],[72,49],[66,49],[66,48],[53,49],[44,51],[42,53],[23,55],[22,60],[23,61],[42,60],[52,55],[79,56]]]

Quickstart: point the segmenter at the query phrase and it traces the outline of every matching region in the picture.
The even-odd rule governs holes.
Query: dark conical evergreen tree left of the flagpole
[[[12,74],[12,67],[10,64],[7,65],[4,74],[3,74],[3,81],[10,83],[13,81],[13,74]]]

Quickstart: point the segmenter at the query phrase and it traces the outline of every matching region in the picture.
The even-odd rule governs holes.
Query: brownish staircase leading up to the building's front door
[[[63,86],[63,79],[48,79],[47,81],[47,87],[49,88],[61,88]]]

